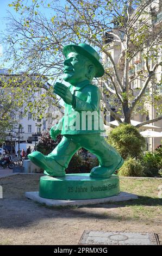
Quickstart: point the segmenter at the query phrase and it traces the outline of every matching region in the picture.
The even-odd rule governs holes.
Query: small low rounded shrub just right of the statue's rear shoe
[[[119,169],[117,174],[120,176],[140,177],[143,176],[143,171],[144,168],[140,160],[130,157],[124,161],[123,166]]]

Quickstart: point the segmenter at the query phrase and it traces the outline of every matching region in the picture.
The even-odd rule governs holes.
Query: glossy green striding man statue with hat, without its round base
[[[63,53],[65,56],[64,81],[70,86],[67,87],[59,82],[54,85],[54,93],[65,102],[65,114],[50,130],[54,140],[60,133],[63,138],[49,155],[45,156],[35,151],[28,157],[45,170],[46,175],[64,177],[65,169],[72,156],[78,149],[85,148],[99,160],[99,166],[92,168],[90,172],[90,179],[107,179],[122,166],[123,159],[101,136],[103,126],[96,126],[96,120],[101,122],[99,115],[101,94],[98,87],[92,84],[92,78],[102,77],[104,68],[99,62],[98,53],[88,44],[66,45]],[[83,121],[84,113],[88,114]],[[92,113],[97,113],[98,118],[95,119],[92,116],[90,119],[89,116]],[[88,127],[89,119],[90,127]]]

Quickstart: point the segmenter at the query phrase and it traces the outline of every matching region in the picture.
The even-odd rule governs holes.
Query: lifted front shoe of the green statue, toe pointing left
[[[49,176],[65,176],[65,167],[61,166],[52,156],[44,156],[39,151],[28,155],[30,161],[42,168]]]

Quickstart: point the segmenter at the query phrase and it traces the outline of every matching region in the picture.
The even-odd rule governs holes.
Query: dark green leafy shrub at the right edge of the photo
[[[159,170],[162,169],[162,149],[159,148],[154,153],[146,152],[143,157],[143,164],[145,176],[158,176]]]

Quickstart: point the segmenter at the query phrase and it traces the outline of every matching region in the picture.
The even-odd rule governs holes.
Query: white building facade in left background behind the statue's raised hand
[[[8,75],[7,69],[0,69],[1,75]],[[49,83],[46,83],[45,86],[50,86]],[[45,93],[45,89],[41,88],[39,92],[34,93],[34,98],[37,100],[41,100],[41,94]],[[38,143],[40,136],[43,132],[49,131],[51,127],[61,119],[63,116],[64,108],[60,105],[55,106],[54,104],[49,106],[45,111],[45,117],[33,118],[32,113],[27,112],[24,116],[24,109],[20,109],[16,113],[11,113],[14,115],[14,119],[16,120],[16,125],[13,126],[12,131],[8,131],[9,136],[7,136],[6,145],[11,144],[11,132],[12,132],[12,140],[13,146],[15,146],[16,142],[18,142],[18,137],[20,137],[20,143]],[[18,129],[19,127],[19,129]]]

